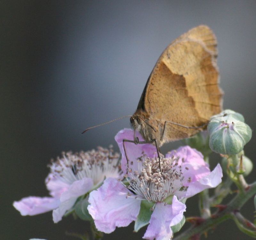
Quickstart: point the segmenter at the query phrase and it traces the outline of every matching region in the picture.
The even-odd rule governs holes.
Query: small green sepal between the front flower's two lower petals
[[[153,211],[150,209],[155,205],[154,202],[141,201],[140,213],[134,224],[134,231],[138,232],[142,227],[146,226],[150,220]]]

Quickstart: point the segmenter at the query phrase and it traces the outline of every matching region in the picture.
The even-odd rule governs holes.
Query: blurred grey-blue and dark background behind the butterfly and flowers
[[[52,213],[21,216],[14,200],[47,196],[50,159],[65,150],[114,144],[132,114],[155,62],[176,37],[200,24],[218,39],[224,108],[242,113],[255,128],[256,1],[1,1],[1,223],[0,239],[76,239],[87,223]],[[166,144],[162,151],[179,146]],[[255,159],[255,134],[245,152]],[[216,165],[214,162],[212,165]],[[255,180],[254,169],[248,181]],[[197,198],[186,216],[196,215]],[[251,200],[242,209],[251,221]],[[141,239],[145,229],[117,229],[105,239]],[[203,237],[204,238],[204,237]],[[251,239],[226,221],[213,239]]]

